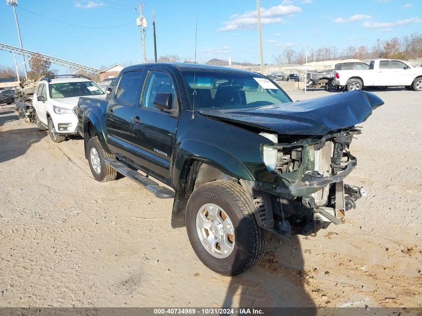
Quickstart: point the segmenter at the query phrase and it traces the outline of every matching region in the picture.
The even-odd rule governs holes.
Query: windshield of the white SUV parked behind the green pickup
[[[52,83],[48,88],[52,99],[104,94],[92,81]]]

